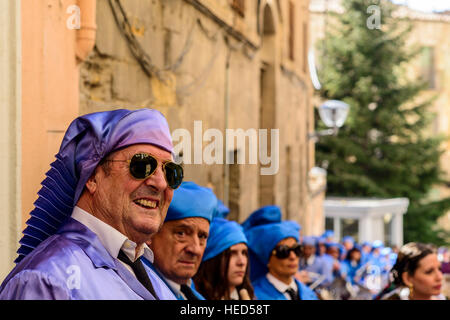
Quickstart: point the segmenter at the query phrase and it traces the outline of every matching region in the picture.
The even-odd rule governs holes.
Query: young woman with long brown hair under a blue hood
[[[207,300],[254,299],[247,238],[241,225],[220,217],[212,220],[194,282]]]

